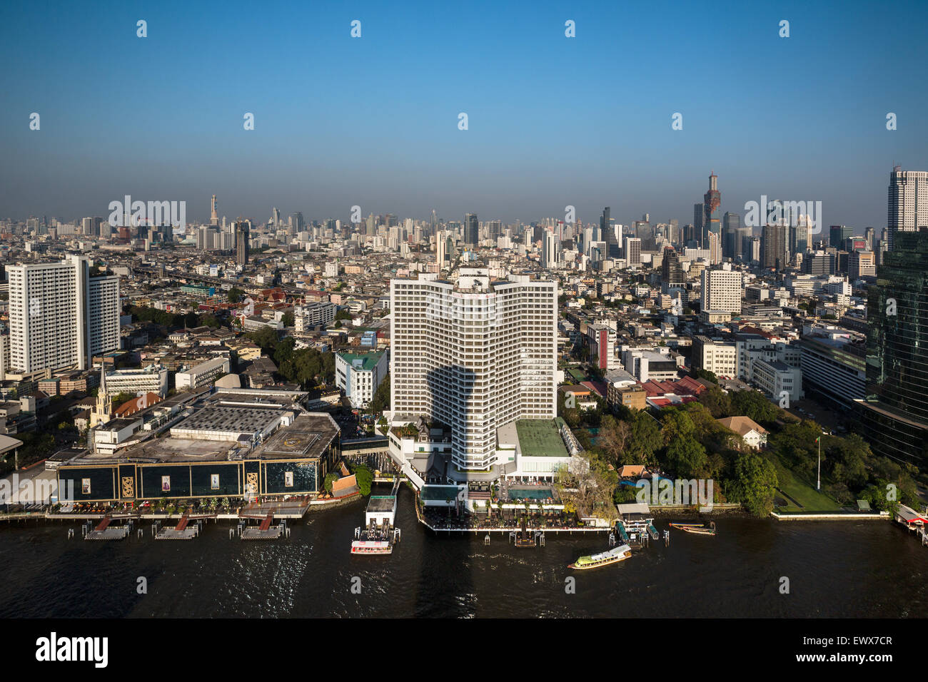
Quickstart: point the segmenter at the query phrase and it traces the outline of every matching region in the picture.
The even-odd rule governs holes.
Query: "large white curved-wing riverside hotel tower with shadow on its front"
[[[483,268],[390,284],[391,409],[452,433],[461,470],[497,462],[497,428],[557,416],[558,285]]]

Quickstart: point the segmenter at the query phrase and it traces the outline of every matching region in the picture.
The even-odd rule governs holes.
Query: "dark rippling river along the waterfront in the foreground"
[[[144,538],[122,542],[84,542],[76,523],[0,525],[0,617],[928,616],[928,547],[890,522],[722,516],[715,537],[675,531],[669,547],[652,542],[622,563],[572,572],[576,557],[608,548],[605,534],[549,534],[532,549],[496,534],[487,547],[474,534],[432,534],[412,505],[403,487],[403,539],[389,557],[351,556],[360,501],[266,542],[229,539],[230,522],[158,542],[147,523]],[[140,576],[148,594],[136,592]],[[780,594],[782,576],[790,594]]]

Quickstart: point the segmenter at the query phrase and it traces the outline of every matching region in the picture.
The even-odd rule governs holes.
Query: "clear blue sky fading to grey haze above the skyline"
[[[928,170],[926,19],[924,2],[6,3],[0,217],[106,216],[130,194],[205,220],[214,193],[230,218],[571,204],[682,225],[715,170],[723,212],[766,194],[879,229],[894,161]]]

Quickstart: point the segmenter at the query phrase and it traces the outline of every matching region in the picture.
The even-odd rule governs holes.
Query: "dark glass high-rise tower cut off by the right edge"
[[[928,457],[928,229],[896,231],[867,291],[867,397],[862,432],[877,455]]]

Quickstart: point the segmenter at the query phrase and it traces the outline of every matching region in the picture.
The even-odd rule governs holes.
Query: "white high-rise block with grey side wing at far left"
[[[120,346],[119,277],[89,277],[87,259],[12,265],[9,277],[10,374],[86,369]]]

